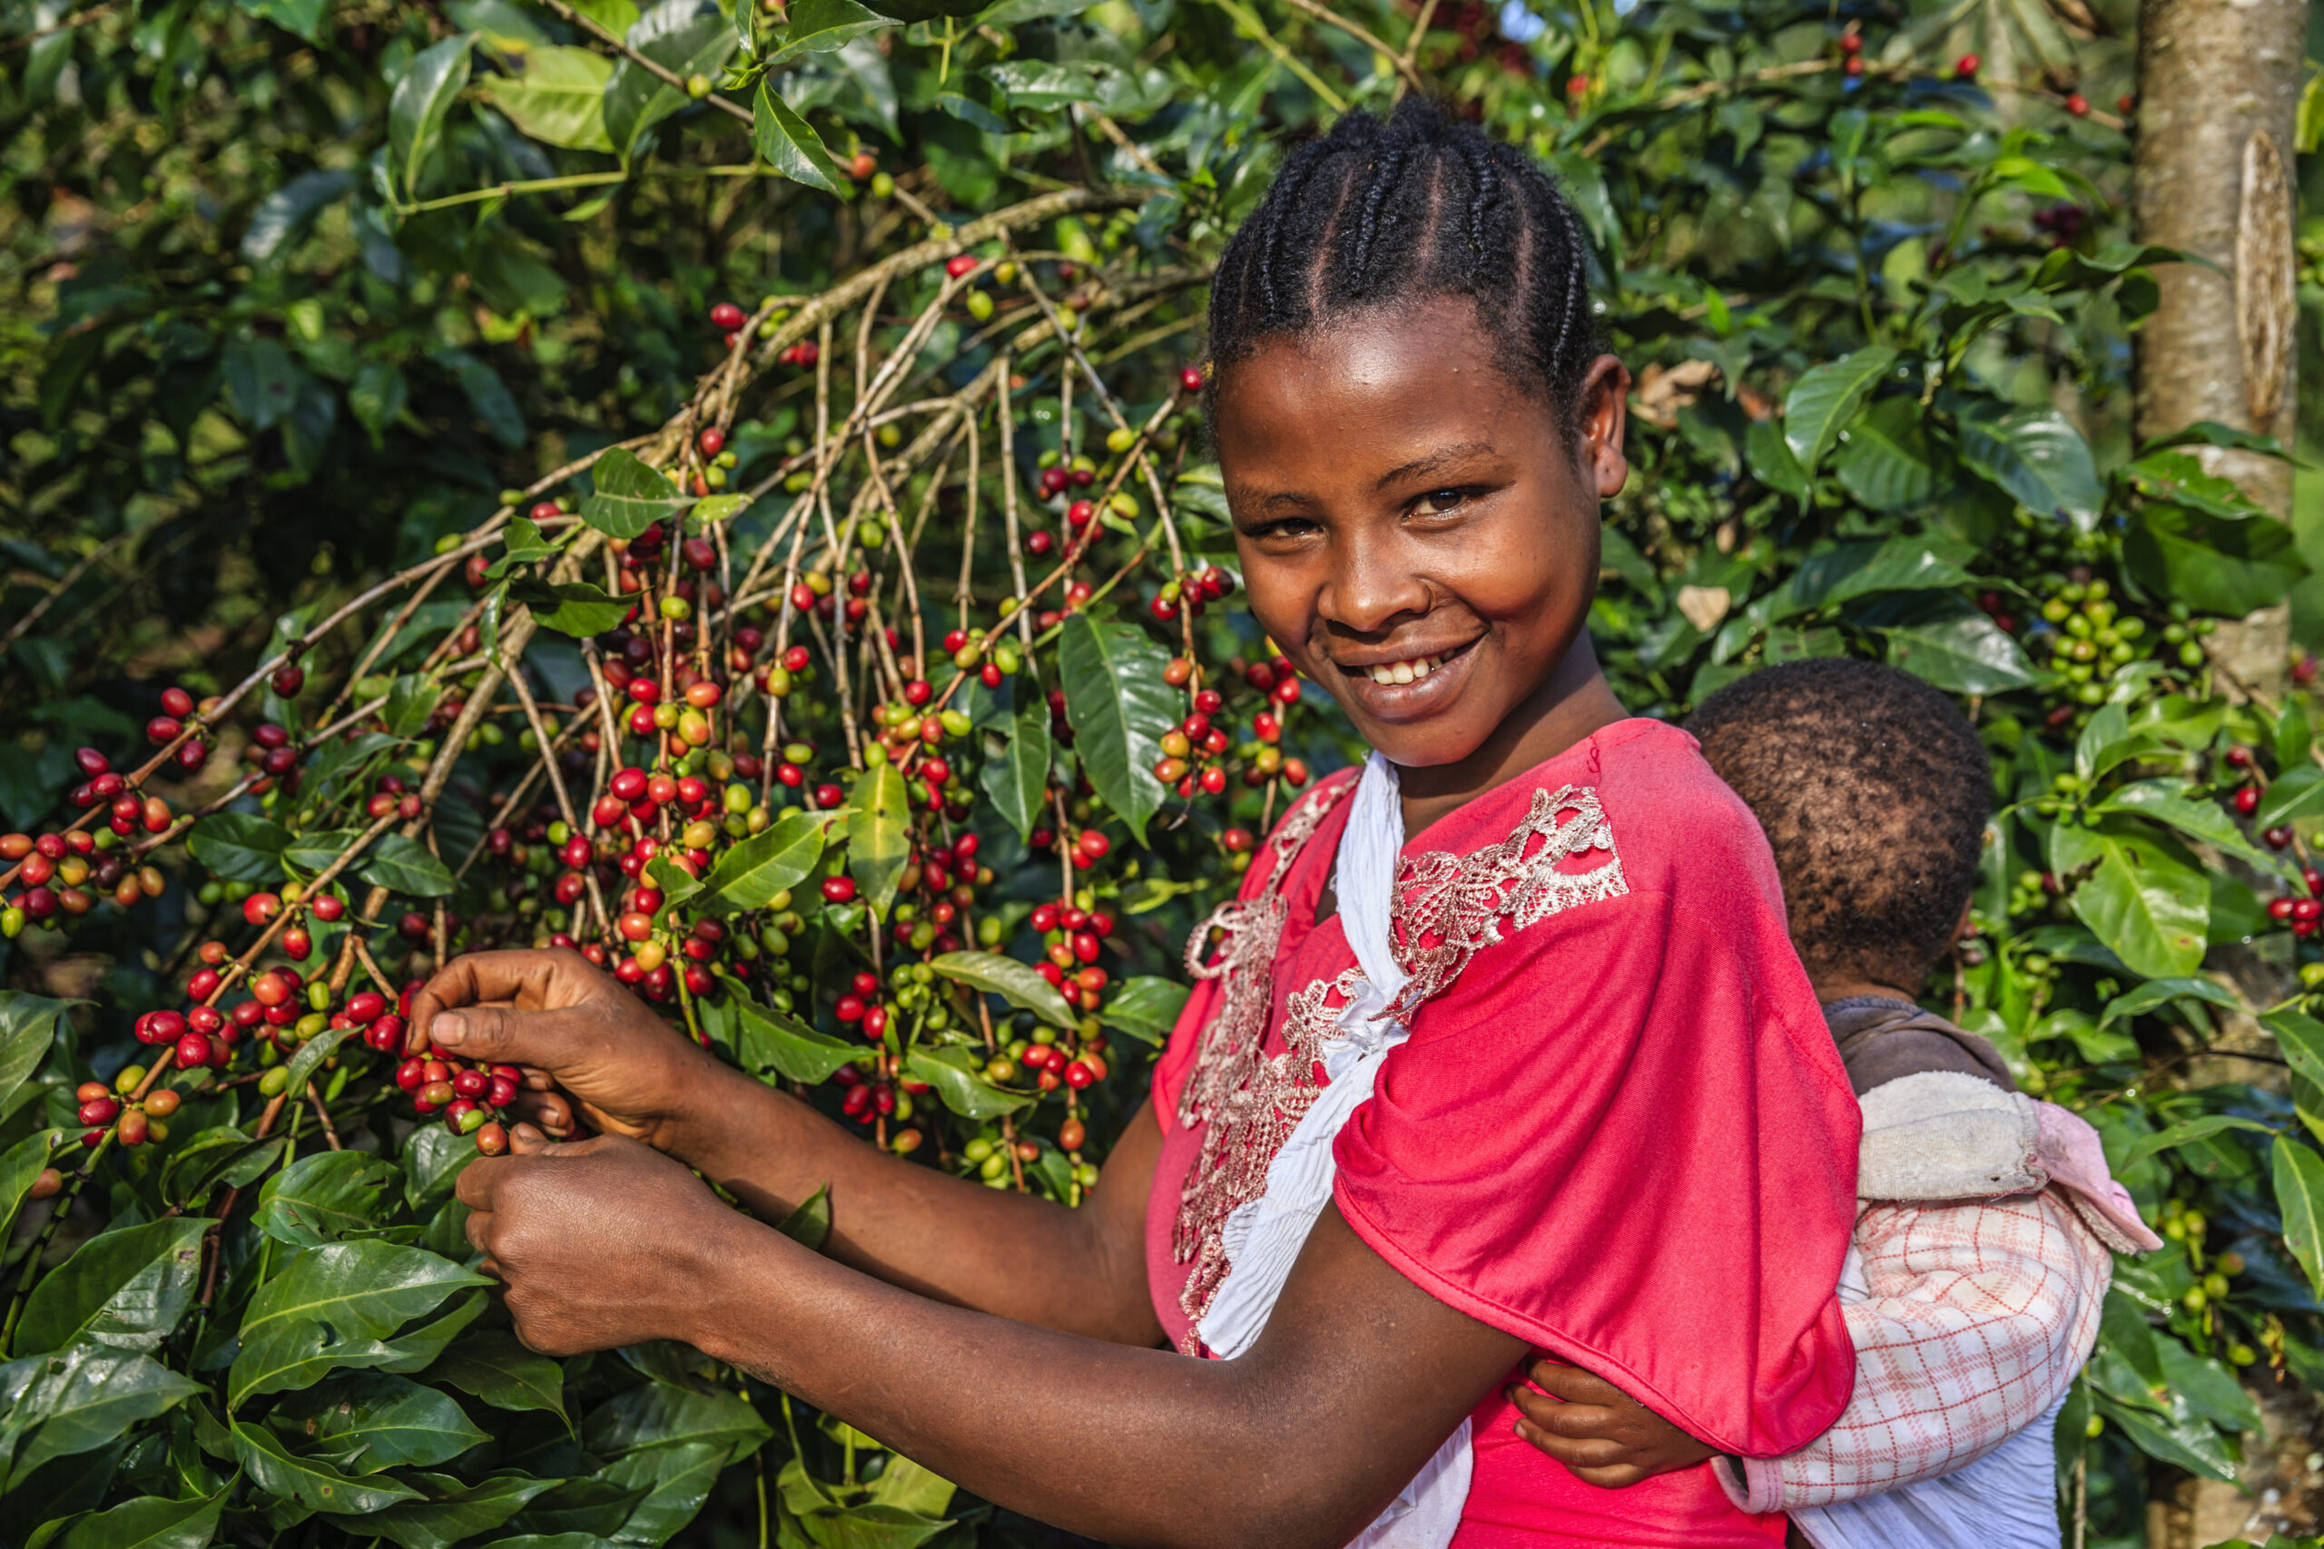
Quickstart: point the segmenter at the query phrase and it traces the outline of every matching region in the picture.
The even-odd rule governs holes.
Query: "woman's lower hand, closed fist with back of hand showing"
[[[467,1240],[507,1287],[516,1338],[548,1356],[683,1340],[737,1217],[637,1140],[551,1145],[518,1124],[507,1157],[460,1173]]]

